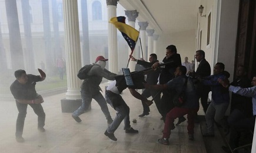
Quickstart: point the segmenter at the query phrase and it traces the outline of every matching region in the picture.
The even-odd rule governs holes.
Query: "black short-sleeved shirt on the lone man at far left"
[[[36,98],[35,84],[36,82],[41,81],[41,77],[39,75],[28,74],[28,82],[26,84],[20,84],[16,79],[10,90],[15,99],[27,99],[32,100]]]

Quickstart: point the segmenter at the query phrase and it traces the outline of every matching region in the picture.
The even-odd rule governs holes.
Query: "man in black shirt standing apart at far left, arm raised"
[[[38,115],[38,131],[44,132],[45,112],[41,103],[44,99],[35,91],[35,85],[38,81],[43,81],[46,77],[45,72],[38,69],[40,75],[26,74],[26,71],[19,69],[14,72],[16,80],[12,83],[10,89],[15,98],[19,114],[16,121],[16,141],[24,142],[22,138],[24,121],[26,117],[26,108],[30,105],[35,114]]]

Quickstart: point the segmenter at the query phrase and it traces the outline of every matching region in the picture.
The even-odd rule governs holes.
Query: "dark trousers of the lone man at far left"
[[[41,104],[21,104],[16,101],[16,106],[19,111],[16,121],[16,137],[22,136],[24,121],[26,118],[26,108],[28,108],[28,105],[30,105],[33,108],[35,114],[38,115],[38,128],[44,127],[45,125],[45,112]]]

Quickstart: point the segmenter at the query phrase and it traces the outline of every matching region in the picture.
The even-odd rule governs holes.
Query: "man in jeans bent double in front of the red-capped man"
[[[137,79],[138,77],[141,79]],[[132,81],[134,82],[135,88],[138,88],[138,89],[144,88],[144,86],[142,85],[142,80],[144,80],[143,74],[140,76],[134,75]],[[139,88],[139,87],[142,87],[142,88]],[[138,130],[133,129],[131,127],[131,124],[129,121],[129,107],[120,95],[120,93],[124,91],[125,88],[127,88],[125,78],[124,76],[119,76],[116,78],[115,81],[111,82],[111,84],[108,85],[105,91],[106,101],[108,102],[109,105],[111,105],[111,107],[115,109],[115,111],[117,111],[117,116],[115,117],[112,124],[109,125],[109,127],[104,133],[109,139],[112,139],[113,141],[117,141],[117,138],[115,137],[114,132],[119,127],[119,125],[123,120],[124,120],[125,133],[139,132]],[[142,95],[139,94],[137,91],[135,91],[134,88],[129,88],[129,91],[131,92],[132,96],[134,96],[137,99],[140,99],[142,102],[145,102],[145,104],[147,105],[152,104],[151,101],[148,101],[147,98],[142,97]]]

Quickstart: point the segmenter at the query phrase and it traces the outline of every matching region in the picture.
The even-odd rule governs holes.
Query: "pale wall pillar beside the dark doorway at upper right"
[[[235,45],[237,42],[239,0],[221,1],[220,33],[218,41],[218,62],[225,64],[230,72],[230,81],[234,75]]]

